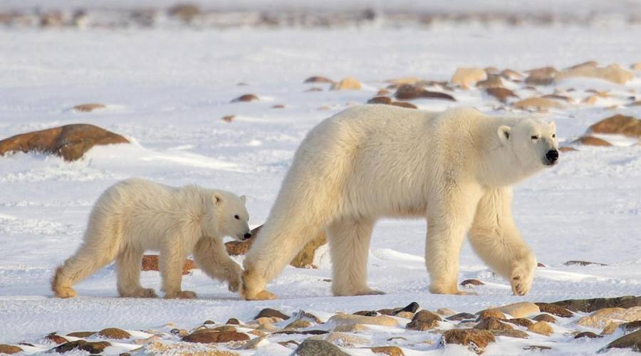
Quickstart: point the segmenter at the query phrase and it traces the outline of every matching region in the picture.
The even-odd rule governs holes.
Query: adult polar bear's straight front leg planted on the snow
[[[449,187],[444,197],[436,199],[427,216],[425,264],[431,278],[429,291],[434,294],[468,294],[458,288],[459,254],[471,221],[479,189]]]

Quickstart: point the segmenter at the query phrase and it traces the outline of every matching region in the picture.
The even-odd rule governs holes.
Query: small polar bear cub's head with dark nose
[[[245,196],[229,192],[215,192],[212,197],[215,224],[220,236],[231,236],[243,241],[251,237],[249,213],[245,208]]]

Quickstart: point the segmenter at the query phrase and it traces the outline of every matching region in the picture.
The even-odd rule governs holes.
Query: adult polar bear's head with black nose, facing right
[[[556,124],[528,118],[512,126],[501,126],[497,132],[504,147],[511,150],[523,169],[536,171],[558,162]]]

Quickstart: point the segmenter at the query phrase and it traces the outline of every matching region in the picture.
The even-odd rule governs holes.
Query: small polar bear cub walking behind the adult
[[[118,293],[152,298],[140,286],[140,263],[147,250],[160,251],[160,275],[166,298],[195,298],[181,290],[182,265],[194,259],[212,278],[239,288],[242,270],[226,253],[224,236],[251,236],[245,198],[196,185],[168,187],[145,179],[127,179],[108,188],[93,206],[83,243],[56,269],[51,288],[60,298],[75,296],[71,288],[116,261]]]

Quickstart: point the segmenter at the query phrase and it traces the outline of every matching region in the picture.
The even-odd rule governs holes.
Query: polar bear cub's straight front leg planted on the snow
[[[174,239],[160,248],[160,277],[165,298],[194,299],[196,293],[182,290],[182,265],[186,256],[182,248],[182,240]]]

